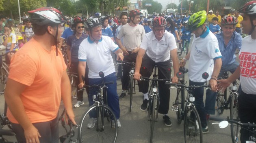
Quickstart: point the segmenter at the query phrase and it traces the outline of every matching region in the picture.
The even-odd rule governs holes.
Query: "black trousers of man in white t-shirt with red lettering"
[[[256,95],[246,94],[241,91],[238,98],[238,114],[242,123],[256,123]],[[254,134],[241,128],[241,143],[249,141],[249,137]]]

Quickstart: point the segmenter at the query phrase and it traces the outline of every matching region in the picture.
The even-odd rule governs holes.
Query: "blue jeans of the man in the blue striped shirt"
[[[219,77],[223,75],[225,71],[230,71],[233,74],[238,66],[239,66],[239,63],[237,63],[236,61],[230,65],[221,66],[221,70],[219,71]],[[237,92],[240,93],[240,91],[241,91],[241,86],[239,86]],[[212,115],[215,114],[216,97],[217,97],[216,92],[213,92],[213,94],[206,96],[205,98],[206,114],[212,114]]]

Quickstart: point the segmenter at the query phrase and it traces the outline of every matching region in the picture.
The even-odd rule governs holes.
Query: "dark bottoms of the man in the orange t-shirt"
[[[40,143],[59,143],[59,120],[58,116],[48,122],[33,123],[37,128],[41,137],[39,137]],[[16,134],[18,142],[26,143],[24,136],[24,130],[20,124],[11,123],[13,131]]]

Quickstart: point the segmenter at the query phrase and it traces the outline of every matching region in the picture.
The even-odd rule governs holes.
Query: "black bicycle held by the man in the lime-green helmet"
[[[178,72],[176,75],[179,79],[182,78],[181,83],[184,81],[184,74],[183,72]],[[206,80],[208,78],[208,73],[203,73],[202,77]],[[178,124],[184,120],[184,141],[187,142],[203,142],[203,133],[202,133],[202,125],[199,114],[195,109],[195,105],[193,101],[195,101],[195,97],[191,94],[190,89],[193,88],[202,88],[202,87],[209,87],[209,85],[202,85],[202,86],[186,86],[183,84],[176,84],[176,83],[165,83],[171,86],[171,88],[177,88],[177,97],[173,105],[173,110],[176,111]],[[185,100],[185,93],[184,90],[188,91],[187,99]],[[185,109],[184,109],[184,102],[186,102]],[[177,105],[178,104],[178,105]]]

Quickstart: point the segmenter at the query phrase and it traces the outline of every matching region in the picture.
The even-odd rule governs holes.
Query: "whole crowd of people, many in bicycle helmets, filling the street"
[[[0,17],[0,31],[4,34],[2,44],[6,46],[6,62],[10,64],[4,96],[8,105],[7,116],[18,142],[58,143],[61,99],[67,116],[76,124],[67,68],[78,73],[77,89],[85,84],[99,84],[102,80],[114,81],[107,85],[107,101],[117,118],[117,126],[121,127],[119,100],[126,97],[130,67],[119,65],[116,72],[111,54],[115,54],[117,60],[136,63],[134,78],[138,80],[139,92],[143,95],[141,111],[147,110],[149,102],[149,82],[139,81],[141,76],[150,77],[157,65],[158,78],[169,78],[178,83],[179,66],[184,67],[189,60],[189,85],[205,84],[201,75],[204,72],[209,74],[210,89],[206,90],[205,103],[204,88],[192,92],[203,133],[208,132],[210,114],[215,114],[217,91],[227,88],[237,78],[241,83],[238,90],[241,122],[256,122],[256,114],[252,114],[256,112],[256,51],[253,48],[256,44],[256,1],[246,3],[239,10],[231,9],[226,16],[220,16],[219,12],[215,15],[212,10],[208,15],[206,11],[199,11],[191,16],[188,13],[160,13],[143,17],[135,9],[123,12],[119,17],[95,13],[88,19],[67,19],[55,8],[39,8],[28,13],[30,17],[24,16],[20,37],[15,36],[11,25],[5,25],[5,18]],[[249,35],[244,39],[241,28]],[[185,39],[191,40],[192,33],[189,53],[178,63],[177,52]],[[64,46],[67,46],[67,65],[61,53]],[[235,60],[236,49],[240,50],[240,63]],[[169,70],[170,58],[173,77]],[[104,72],[104,78],[100,78],[100,71]],[[218,80],[225,71],[232,75],[226,80]],[[119,78],[122,90],[118,96]],[[89,105],[93,104],[95,92],[87,89]],[[158,113],[163,114],[166,126],[172,125],[168,116],[170,95],[169,86],[159,82]],[[84,105],[83,91],[77,92],[77,97],[75,108]],[[95,113],[90,114],[90,119],[87,127],[94,128]],[[248,137],[248,131],[241,129],[241,142],[245,143]]]

